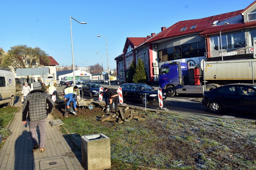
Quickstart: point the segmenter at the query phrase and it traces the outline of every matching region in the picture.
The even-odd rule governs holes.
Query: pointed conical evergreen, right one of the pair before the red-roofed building
[[[134,83],[146,83],[147,76],[146,71],[144,68],[144,64],[142,63],[141,58],[138,58],[138,64],[136,66],[135,74],[133,76]]]

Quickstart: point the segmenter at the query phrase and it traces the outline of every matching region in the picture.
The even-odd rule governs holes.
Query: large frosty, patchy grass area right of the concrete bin
[[[108,136],[111,170],[256,169],[254,122],[172,113],[149,115],[145,122],[122,124],[81,115],[62,119],[62,126],[80,136]]]

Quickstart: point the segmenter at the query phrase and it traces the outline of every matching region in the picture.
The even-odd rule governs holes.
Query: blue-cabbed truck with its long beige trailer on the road
[[[181,94],[203,95],[204,85],[205,90],[209,91],[226,84],[254,84],[255,62],[256,59],[206,61],[203,69],[200,65],[189,66],[178,61],[164,63],[160,67],[159,86],[172,97]]]

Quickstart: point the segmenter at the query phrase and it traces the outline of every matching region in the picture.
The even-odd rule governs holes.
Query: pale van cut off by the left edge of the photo
[[[16,85],[14,73],[11,71],[0,70],[0,105],[6,104],[13,106],[16,100]]]

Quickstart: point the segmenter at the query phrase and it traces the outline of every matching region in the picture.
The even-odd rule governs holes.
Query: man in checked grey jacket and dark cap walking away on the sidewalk
[[[23,105],[22,112],[22,123],[27,124],[26,116],[28,114],[29,120],[29,132],[33,141],[32,152],[39,148],[38,138],[36,135],[36,128],[38,126],[40,132],[40,152],[45,150],[45,127],[46,127],[46,118],[48,113],[50,113],[54,106],[54,101],[51,97],[41,90],[41,84],[38,82],[33,83],[33,89],[26,97]],[[47,109],[46,105],[48,104],[49,108]]]

